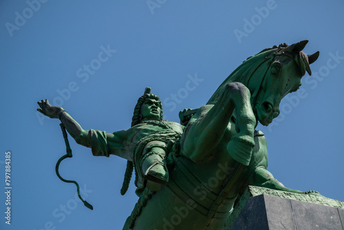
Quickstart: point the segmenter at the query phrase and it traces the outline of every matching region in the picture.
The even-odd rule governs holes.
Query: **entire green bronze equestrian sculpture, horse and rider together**
[[[125,194],[133,169],[139,200],[123,229],[219,230],[248,185],[288,189],[266,169],[264,134],[255,128],[279,115],[279,103],[301,86],[319,52],[306,55],[308,41],[262,50],[228,76],[206,105],[180,112],[181,123],[162,121],[162,105],[148,88],[136,105],[131,128],[107,134],[83,130],[61,107],[39,103],[59,118],[80,145],[95,156],[128,160]],[[165,186],[162,186],[165,185]]]

